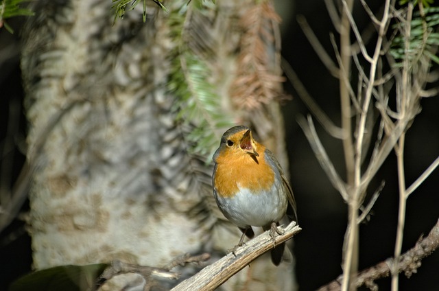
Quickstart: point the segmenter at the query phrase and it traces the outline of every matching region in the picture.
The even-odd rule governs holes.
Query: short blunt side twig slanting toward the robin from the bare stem
[[[329,159],[327,152],[324,150],[324,147],[322,146],[322,143],[318,138],[316,128],[314,127],[311,116],[308,115],[308,121],[306,121],[304,117],[299,116],[297,121],[300,128],[302,128],[303,132],[305,133],[309,145],[311,146],[314,154],[316,155],[316,158],[320,163],[320,166],[327,174],[329,181],[331,181],[333,187],[340,192],[342,198],[347,202],[349,197],[348,197],[348,191],[346,189],[346,184],[344,183],[344,181],[342,181],[342,178],[340,178],[340,176],[338,175],[337,170],[335,170],[335,167],[331,162],[331,160]]]

